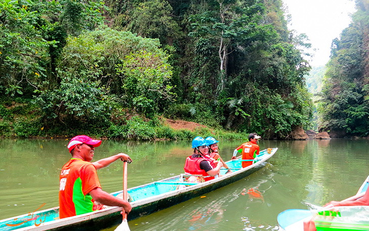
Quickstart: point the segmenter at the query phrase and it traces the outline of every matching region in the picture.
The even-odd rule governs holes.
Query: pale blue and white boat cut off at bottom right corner
[[[368,186],[369,186],[369,176],[367,176],[366,179],[364,180],[364,182],[361,184],[361,187],[357,191],[356,195],[353,196],[353,197],[347,198],[344,201],[356,200],[356,199],[362,197],[363,193],[366,192]],[[367,207],[367,208],[365,208],[365,207]],[[357,212],[357,211],[364,211],[366,209],[369,210],[368,206],[360,206],[360,208],[357,208],[357,206],[340,206],[340,207],[336,207],[336,208],[341,208],[341,210],[345,211],[346,214],[353,213],[354,211]],[[326,209],[326,210],[328,210],[328,209]],[[352,210],[352,211],[350,211],[350,210]],[[322,211],[326,212],[324,208],[320,208],[318,210],[313,210],[313,211],[306,210],[306,209],[287,209],[287,210],[281,212],[278,215],[277,220],[278,220],[278,224],[279,224],[279,227],[280,227],[279,230],[283,230],[283,231],[303,231],[303,229],[304,229],[303,228],[304,220],[307,219],[307,218],[311,218],[313,213],[323,214]],[[338,210],[338,212],[339,211],[340,210]],[[342,213],[342,211],[341,211],[341,213]],[[335,215],[335,214],[330,213],[330,215]],[[336,213],[336,215],[337,215],[337,213]],[[331,216],[331,217],[333,217],[333,216]],[[346,222],[346,224],[347,224],[347,222]],[[320,224],[317,224],[316,226],[319,226],[319,225]],[[352,224],[351,226],[355,226],[355,225]],[[319,229],[320,229],[320,227],[318,227],[318,230]],[[332,229],[332,228],[330,229],[329,227],[322,228],[321,230],[323,230],[323,229],[324,230],[336,230],[336,229]],[[367,226],[366,229],[355,229],[354,227],[353,228],[349,228],[349,227],[344,227],[343,228],[343,227],[341,227],[341,229],[339,229],[339,230],[369,230],[369,226]]]

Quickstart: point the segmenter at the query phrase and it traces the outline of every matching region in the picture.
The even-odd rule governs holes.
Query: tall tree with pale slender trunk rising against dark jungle
[[[256,1],[216,0],[207,4],[210,6],[208,10],[190,15],[192,31],[189,36],[197,38],[197,47],[202,47],[208,40],[217,48],[219,88],[223,90],[228,55],[234,52],[238,43],[252,36],[262,7]]]

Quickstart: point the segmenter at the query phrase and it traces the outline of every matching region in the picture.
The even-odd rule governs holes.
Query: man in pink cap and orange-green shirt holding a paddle
[[[68,149],[72,158],[60,172],[60,218],[100,210],[104,205],[123,207],[127,213],[131,211],[132,207],[128,201],[116,198],[101,189],[96,170],[107,167],[119,159],[129,162],[132,159],[124,153],[119,153],[91,163],[95,148],[100,145],[101,141],[93,140],[86,135],[77,135],[70,140]]]

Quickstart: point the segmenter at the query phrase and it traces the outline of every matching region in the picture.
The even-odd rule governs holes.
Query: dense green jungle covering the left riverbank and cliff
[[[288,138],[312,102],[310,44],[285,13],[281,0],[3,0],[0,132]]]

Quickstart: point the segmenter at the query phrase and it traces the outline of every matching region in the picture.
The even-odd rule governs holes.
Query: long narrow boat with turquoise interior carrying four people
[[[268,160],[278,148],[270,148],[260,152],[253,164],[242,168],[240,157],[227,161],[233,172],[225,174],[226,169],[220,169],[222,176],[200,183],[190,183],[183,179],[186,175],[180,174],[170,178],[144,184],[128,189],[132,210],[128,219],[132,220],[189,199],[211,192],[229,183],[243,179],[246,176],[265,167]],[[118,196],[122,191],[112,193]],[[109,207],[103,210],[59,219],[59,207],[34,211],[4,220],[0,220],[0,230],[100,230],[118,225],[122,221],[121,208]]]

